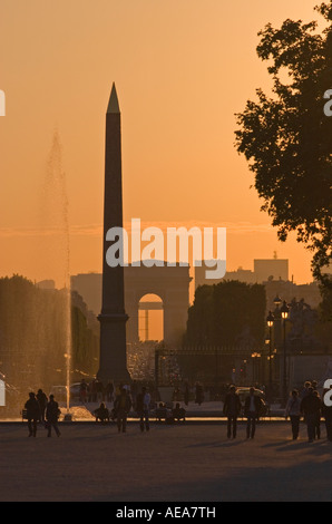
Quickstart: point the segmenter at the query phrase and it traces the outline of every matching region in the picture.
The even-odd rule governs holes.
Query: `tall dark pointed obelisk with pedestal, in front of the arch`
[[[109,266],[106,253],[111,227],[123,227],[121,115],[115,84],[106,114],[102,305],[100,322],[100,362],[98,379],[106,384],[128,384],[124,266]]]

